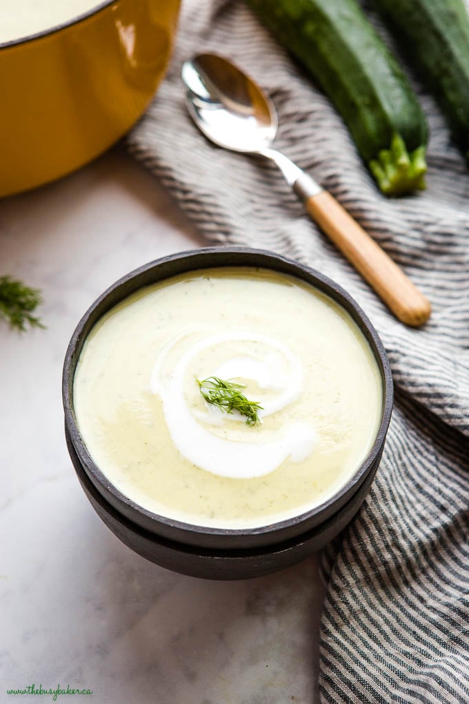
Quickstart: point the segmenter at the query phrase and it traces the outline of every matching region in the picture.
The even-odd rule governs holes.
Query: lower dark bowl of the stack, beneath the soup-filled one
[[[78,459],[67,431],[65,431],[65,437],[70,458],[84,493],[98,516],[115,536],[135,553],[139,553],[150,562],[155,562],[155,565],[188,574],[190,577],[203,577],[203,579],[262,577],[263,574],[295,565],[296,562],[321,550],[357,513],[368,494],[377,468],[374,467],[371,472],[368,472],[359,489],[338,513],[304,534],[264,548],[244,550],[197,548],[150,533],[118,513],[99,491],[96,491],[96,487]]]

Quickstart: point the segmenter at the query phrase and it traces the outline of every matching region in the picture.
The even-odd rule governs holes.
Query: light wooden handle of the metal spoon
[[[399,320],[418,326],[430,318],[430,302],[328,191],[305,202],[311,218],[383,299]]]

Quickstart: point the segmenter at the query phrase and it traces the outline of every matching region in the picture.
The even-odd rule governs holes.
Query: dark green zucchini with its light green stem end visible
[[[425,188],[425,115],[356,0],[248,0],[248,5],[328,95],[383,193]]]

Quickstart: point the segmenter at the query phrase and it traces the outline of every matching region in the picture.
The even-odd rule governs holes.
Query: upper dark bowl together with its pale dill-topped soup
[[[68,347],[63,402],[79,479],[121,539],[130,525],[191,554],[267,555],[305,536],[317,549],[357,510],[392,377],[330,279],[210,248],[145,265],[95,301]]]

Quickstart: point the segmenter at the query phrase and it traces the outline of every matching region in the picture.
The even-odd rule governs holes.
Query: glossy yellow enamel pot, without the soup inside
[[[108,0],[0,44],[0,196],[63,176],[145,110],[172,51],[180,0]]]

